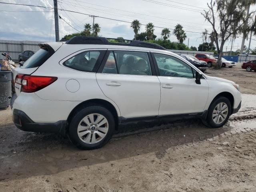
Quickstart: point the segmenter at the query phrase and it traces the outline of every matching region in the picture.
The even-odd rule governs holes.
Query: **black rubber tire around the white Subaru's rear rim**
[[[77,128],[78,128],[78,124],[84,117],[93,113],[101,114],[107,119],[108,132],[106,133],[106,136],[101,141],[95,144],[86,144],[85,142],[82,142],[82,140],[80,140],[80,138],[78,137]],[[104,146],[111,139],[114,130],[115,130],[115,120],[112,113],[109,110],[107,110],[102,106],[89,106],[81,110],[78,110],[76,114],[74,114],[70,122],[68,135],[69,135],[70,141],[74,145],[76,145],[78,148],[83,150],[91,150],[91,149],[101,148],[102,146]]]

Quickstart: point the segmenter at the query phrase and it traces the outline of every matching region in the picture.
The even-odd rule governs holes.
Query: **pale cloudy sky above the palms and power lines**
[[[0,39],[2,40],[33,40],[55,41],[53,0],[1,0],[1,2],[30,4],[46,8],[0,4]],[[108,38],[134,38],[130,23],[138,19],[142,24],[152,22],[155,26],[154,34],[161,37],[162,28],[173,29],[181,24],[186,31],[186,45],[196,46],[202,43],[204,29],[211,31],[212,27],[200,14],[207,9],[208,0],[58,0],[58,8],[72,10],[84,14],[112,18],[126,22],[95,18],[100,24],[100,36]],[[163,5],[164,4],[164,5]],[[256,10],[255,6],[250,11]],[[86,23],[92,24],[92,18],[78,13],[58,10],[63,18],[59,20],[60,39],[66,34],[82,31]],[[69,24],[67,24],[66,22]],[[74,27],[74,28],[72,28]],[[158,28],[159,27],[159,28]],[[161,28],[162,27],[162,28]],[[144,32],[142,25],[139,32]],[[188,42],[189,39],[189,42]],[[256,37],[252,37],[251,48],[256,47]],[[177,41],[176,36],[170,35],[171,41]],[[240,49],[242,38],[234,40],[233,49]],[[245,45],[248,47],[249,41]],[[224,45],[224,51],[230,50],[231,41]]]

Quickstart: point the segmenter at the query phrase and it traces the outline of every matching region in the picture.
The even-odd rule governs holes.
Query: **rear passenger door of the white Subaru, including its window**
[[[118,106],[122,120],[158,116],[160,82],[149,52],[108,50],[96,79]]]

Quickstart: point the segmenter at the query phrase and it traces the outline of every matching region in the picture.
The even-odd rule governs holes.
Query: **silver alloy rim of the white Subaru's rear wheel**
[[[101,114],[92,113],[85,116],[78,124],[77,134],[86,144],[95,144],[108,133],[108,120]]]

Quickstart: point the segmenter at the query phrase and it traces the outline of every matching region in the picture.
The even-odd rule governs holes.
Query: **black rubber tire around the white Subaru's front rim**
[[[225,103],[227,106],[228,106],[228,113],[227,113],[227,116],[225,118],[225,120],[220,123],[220,124],[216,124],[213,119],[212,119],[212,116],[213,116],[213,110],[214,108],[217,106],[217,104],[219,103]],[[208,126],[210,128],[219,128],[219,127],[222,127],[227,121],[228,121],[228,118],[231,114],[231,104],[230,104],[230,100],[228,100],[228,98],[226,97],[219,97],[219,98],[216,98],[211,104],[210,104],[210,107],[209,107],[209,110],[208,110],[208,115],[207,115],[207,118],[206,118],[206,122],[208,124]]]

